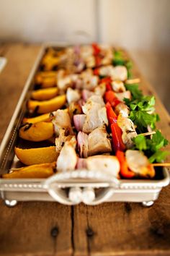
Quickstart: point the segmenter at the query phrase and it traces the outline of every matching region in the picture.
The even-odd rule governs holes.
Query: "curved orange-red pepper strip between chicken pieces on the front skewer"
[[[130,171],[130,169],[128,168],[128,163],[125,159],[125,154],[122,151],[117,150],[116,156],[120,161],[121,176],[128,179],[133,178],[135,176],[135,173],[133,171]]]

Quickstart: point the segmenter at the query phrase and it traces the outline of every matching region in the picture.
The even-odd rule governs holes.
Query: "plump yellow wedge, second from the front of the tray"
[[[14,151],[17,158],[19,158],[19,161],[24,163],[26,166],[39,163],[53,163],[57,160],[59,155],[55,150],[55,146],[29,149],[15,147]]]

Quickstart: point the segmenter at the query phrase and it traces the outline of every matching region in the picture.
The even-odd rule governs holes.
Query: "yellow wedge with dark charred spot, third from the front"
[[[48,140],[50,137],[53,137],[53,133],[53,123],[45,121],[35,124],[25,124],[19,129],[19,137],[35,142]]]

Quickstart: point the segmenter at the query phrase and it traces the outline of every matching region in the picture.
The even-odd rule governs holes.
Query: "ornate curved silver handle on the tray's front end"
[[[71,181],[76,181],[76,179],[79,179],[79,182],[80,179],[82,181],[88,179],[89,181],[106,182],[107,185],[96,195],[94,187],[91,184],[88,186],[88,182],[85,182],[86,186],[80,182],[81,187],[71,183]],[[69,182],[69,190],[66,191],[66,189],[63,189],[60,182],[63,182],[63,184],[64,182]],[[114,194],[115,188],[120,187],[120,182],[110,174],[81,169],[55,174],[46,179],[42,183],[42,187],[48,190],[48,193],[53,199],[61,202],[63,205],[77,205],[80,202],[84,202],[86,205],[98,205],[108,200]],[[99,187],[99,184],[97,187]]]

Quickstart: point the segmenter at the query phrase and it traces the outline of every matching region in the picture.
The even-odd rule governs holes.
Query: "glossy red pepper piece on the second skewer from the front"
[[[111,124],[111,130],[112,130],[113,149],[115,153],[117,152],[117,150],[124,151],[125,144],[122,142],[122,130],[120,129],[117,123]]]

